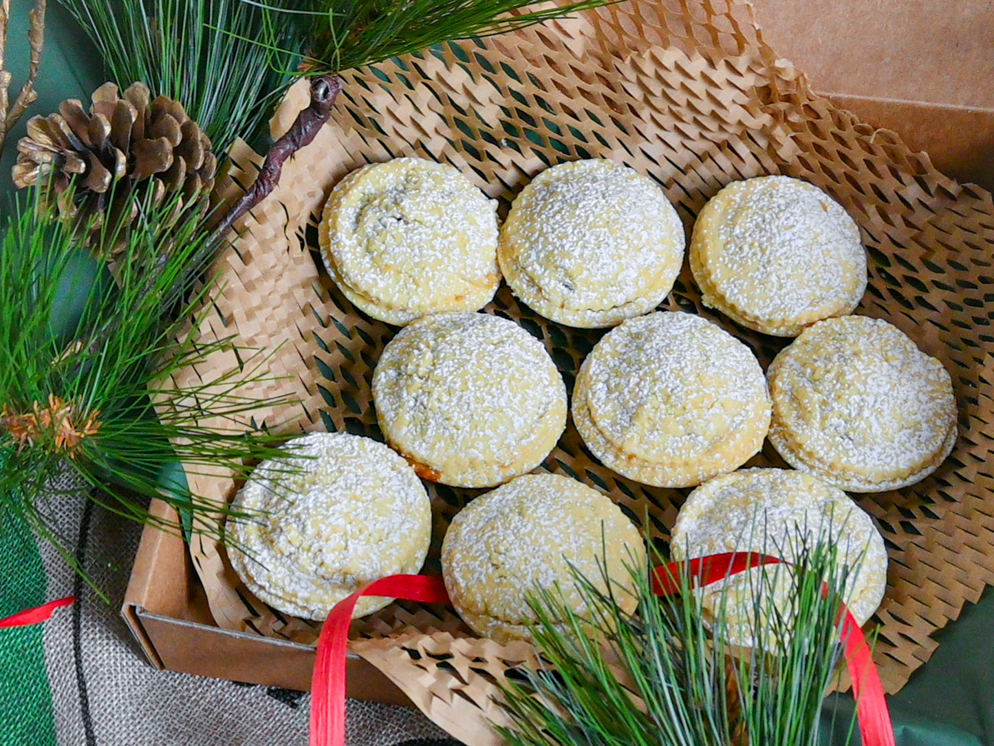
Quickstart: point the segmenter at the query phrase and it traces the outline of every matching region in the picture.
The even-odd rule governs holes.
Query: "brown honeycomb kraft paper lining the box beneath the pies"
[[[934,633],[994,584],[994,476],[985,466],[994,443],[986,368],[994,333],[984,310],[994,299],[990,195],[957,185],[892,133],[811,93],[762,42],[744,4],[628,0],[344,78],[332,122],[287,164],[279,188],[220,260],[220,284],[201,324],[206,338],[234,336],[240,346],[271,355],[263,365],[276,380],[253,383],[247,394],[296,400],[254,411],[254,424],[288,435],[328,429],[380,437],[370,383],[397,329],[353,308],[314,252],[313,224],[329,190],[362,164],[402,155],[451,163],[499,198],[506,214],[510,199],[543,168],[610,158],[656,179],[688,232],[708,198],[730,181],[772,173],[810,181],[860,225],[871,277],[857,312],[888,319],[938,357],[959,406],[959,440],[933,475],[906,489],[857,495],[890,553],[887,596],[871,625],[880,631],[875,657],[885,685],[899,690],[933,652]],[[298,87],[274,130],[284,130],[304,103]],[[244,146],[237,150],[236,182],[247,184],[259,160]],[[789,341],[745,331],[704,308],[686,266],[663,307],[717,320],[764,367]],[[539,318],[506,286],[486,310],[542,337],[571,390],[581,360],[604,333]],[[217,354],[182,373],[179,383],[210,381],[244,358]],[[766,465],[784,466],[768,445],[749,463]],[[639,522],[648,515],[662,540],[689,491],[641,485],[600,466],[572,423],[544,467],[608,492]],[[237,487],[225,474],[189,476],[195,493],[208,498],[230,499]],[[429,485],[428,572],[437,572],[449,519],[480,491]],[[191,553],[221,627],[316,641],[317,625],[284,618],[252,598],[216,542],[195,535]],[[450,609],[406,603],[355,623],[351,650],[471,744],[496,740],[485,724],[500,717],[490,698],[494,679],[533,654],[524,644],[474,639]]]

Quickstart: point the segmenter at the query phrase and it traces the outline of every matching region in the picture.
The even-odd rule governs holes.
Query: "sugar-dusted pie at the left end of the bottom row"
[[[325,619],[374,580],[416,573],[431,507],[414,469],[381,443],[345,433],[290,441],[255,467],[233,508],[228,555],[248,590],[277,611]],[[353,617],[392,601],[364,597]]]

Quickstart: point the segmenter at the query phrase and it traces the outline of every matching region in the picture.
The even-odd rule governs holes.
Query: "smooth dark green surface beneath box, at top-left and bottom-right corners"
[[[15,86],[27,69],[28,0],[13,0],[8,62]],[[30,114],[57,110],[65,98],[87,101],[104,81],[98,54],[73,19],[56,3],[49,4],[47,41],[39,82],[39,99]],[[24,134],[27,116],[11,134],[0,159],[0,210],[7,210],[13,191],[10,167],[16,142]],[[989,589],[988,589],[989,591]],[[890,697],[900,746],[994,745],[994,593],[966,608],[960,619],[936,637],[938,650],[918,669],[897,695]],[[841,743],[852,712],[848,695],[829,697],[824,725],[832,742]],[[859,743],[859,738],[855,739]],[[205,746],[207,746],[205,744]]]

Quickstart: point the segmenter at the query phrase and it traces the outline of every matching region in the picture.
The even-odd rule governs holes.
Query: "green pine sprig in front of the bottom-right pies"
[[[830,542],[805,543],[796,556],[750,576],[752,629],[769,633],[752,650],[725,642],[728,598],[709,618],[689,570],[676,578],[682,593],[666,598],[633,572],[640,603],[630,616],[582,578],[582,617],[561,594],[538,594],[543,664],[502,684],[513,722],[502,735],[511,746],[816,746],[841,654],[841,600],[822,578],[841,588],[851,569]],[[773,603],[777,576],[787,580],[785,605]]]

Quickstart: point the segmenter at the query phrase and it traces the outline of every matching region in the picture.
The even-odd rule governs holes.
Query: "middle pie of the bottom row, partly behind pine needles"
[[[569,608],[584,612],[571,567],[600,591],[606,570],[621,609],[634,612],[632,573],[644,564],[638,529],[617,505],[549,473],[519,476],[474,499],[452,519],[441,546],[452,606],[474,632],[499,643],[531,639],[529,592],[558,585]]]

